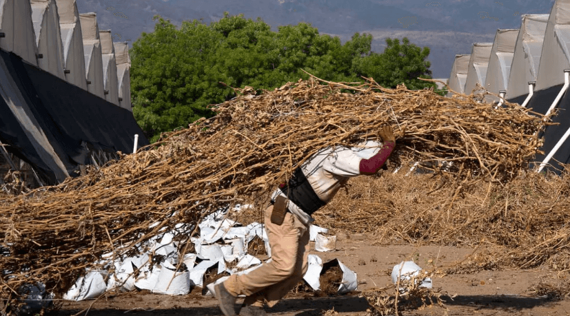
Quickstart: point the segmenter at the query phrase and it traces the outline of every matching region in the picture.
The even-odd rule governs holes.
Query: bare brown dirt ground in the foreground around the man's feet
[[[323,262],[337,258],[358,274],[358,291],[335,297],[288,295],[282,302],[267,309],[269,315],[365,315],[369,304],[365,291],[390,283],[391,268],[413,258],[423,268],[445,270],[460,262],[473,249],[449,246],[373,246],[374,238],[366,235],[338,234],[336,251],[319,255]],[[313,248],[314,249],[314,248]],[[543,269],[481,271],[434,277],[434,289],[446,293],[445,308],[427,306],[406,310],[400,315],[570,315],[570,299],[553,300],[547,295],[533,295],[539,282],[556,282],[557,276]],[[150,292],[108,295],[96,301],[64,301],[59,315],[74,315],[90,308],[90,316],[206,316],[222,315],[213,297],[202,296],[199,289],[189,295],[156,295]],[[241,304],[238,299],[237,304]],[[326,314],[325,314],[326,313]],[[85,315],[81,313],[81,315]]]

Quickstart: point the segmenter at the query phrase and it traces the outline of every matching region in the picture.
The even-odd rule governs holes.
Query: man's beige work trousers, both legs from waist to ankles
[[[309,256],[309,227],[290,212],[283,224],[271,222],[273,205],[265,209],[265,230],[271,247],[270,262],[242,275],[232,275],[223,282],[234,295],[246,295],[245,303],[272,307],[303,279]]]

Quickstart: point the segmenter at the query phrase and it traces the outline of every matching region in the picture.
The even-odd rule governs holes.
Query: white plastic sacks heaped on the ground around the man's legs
[[[249,207],[247,205],[243,207]],[[241,211],[236,206],[234,212]],[[190,234],[193,227],[179,224],[174,231],[164,231],[155,238],[141,244],[139,249],[149,249],[136,257],[113,257],[112,253],[103,255],[100,262],[105,269],[87,271],[63,296],[64,299],[82,300],[99,297],[105,291],[133,291],[135,288],[149,290],[153,293],[168,295],[185,295],[194,286],[204,287],[204,275],[207,271],[232,275],[246,273],[257,268],[262,262],[257,257],[247,254],[247,245],[256,236],[265,243],[268,260],[271,260],[269,240],[263,224],[253,222],[247,226],[227,219],[227,209],[220,209],[208,215],[200,224],[200,237],[193,237],[195,253],[179,255],[179,242],[173,240],[180,233]],[[332,251],[336,247],[336,236],[326,237],[327,229],[311,225],[310,239],[315,241],[316,251]],[[237,264],[228,268],[227,263],[237,260]],[[184,264],[179,271],[176,266]],[[343,282],[338,293],[356,290],[356,273],[338,262],[343,270]],[[317,255],[309,255],[309,269],[304,276],[305,281],[314,290],[320,288],[319,276],[323,262]],[[109,272],[114,271],[114,272]],[[222,282],[222,277],[217,282]],[[207,295],[212,295],[213,284],[207,286]]]

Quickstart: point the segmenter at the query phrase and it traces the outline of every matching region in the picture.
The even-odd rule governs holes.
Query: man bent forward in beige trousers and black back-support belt
[[[312,213],[332,200],[349,178],[374,175],[380,170],[394,150],[396,138],[389,125],[379,135],[383,143],[369,140],[359,147],[319,151],[272,193],[271,205],[264,215],[272,259],[215,286],[225,316],[236,315],[234,304],[238,295],[246,295],[240,316],[266,315],[265,304],[274,306],[303,279],[308,266]]]

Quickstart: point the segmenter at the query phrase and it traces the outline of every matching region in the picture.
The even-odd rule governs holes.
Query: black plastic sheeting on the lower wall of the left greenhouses
[[[139,147],[149,144],[128,109],[40,70],[15,54],[0,50],[0,58],[70,176],[77,174],[73,171],[79,165],[91,163],[89,147],[129,154],[134,134],[139,134]],[[0,114],[2,143],[10,145],[9,151],[30,163],[50,184],[57,183],[54,172],[41,160],[3,98]]]

